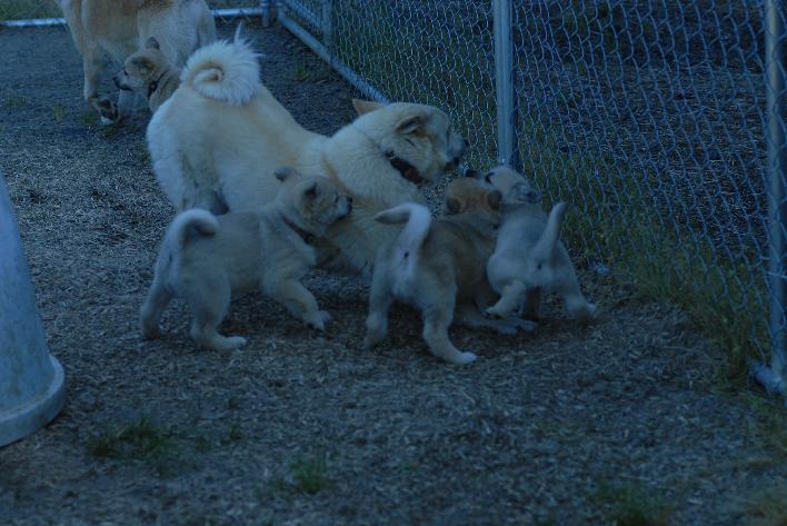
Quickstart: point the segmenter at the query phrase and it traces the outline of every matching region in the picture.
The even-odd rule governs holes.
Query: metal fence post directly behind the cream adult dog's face
[[[497,161],[521,169],[517,145],[517,106],[514,76],[512,11],[510,0],[492,0],[497,106]]]

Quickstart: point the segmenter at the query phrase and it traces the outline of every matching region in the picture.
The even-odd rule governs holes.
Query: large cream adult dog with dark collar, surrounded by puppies
[[[425,202],[418,185],[456,166],[466,141],[437,108],[355,101],[360,116],[332,137],[301,127],[262,86],[255,52],[239,39],[195,52],[180,88],[153,115],[153,171],[178,210],[250,210],[269,202],[273,170],[323,173],[352,196],[348,221],[328,229],[328,268],[368,271],[399,227],[375,221],[405,201]],[[325,101],[326,106],[330,101]]]

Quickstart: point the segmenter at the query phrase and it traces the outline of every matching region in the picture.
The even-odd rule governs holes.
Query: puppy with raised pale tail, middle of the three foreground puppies
[[[385,210],[376,220],[406,224],[396,240],[380,249],[369,295],[363,347],[381,341],[388,331],[388,309],[396,298],[418,307],[429,350],[450,364],[476,359],[448,338],[455,307],[485,306],[494,292],[485,278],[485,264],[495,244],[501,193],[480,182],[460,179],[449,185],[445,209],[432,221],[429,210],[408,202]],[[524,324],[532,330],[532,325]]]

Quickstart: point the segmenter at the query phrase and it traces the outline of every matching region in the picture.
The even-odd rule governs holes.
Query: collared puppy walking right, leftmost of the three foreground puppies
[[[260,287],[310,327],[330,319],[300,279],[317,264],[311,240],[350,214],[352,202],[323,177],[292,169],[276,172],[283,182],[278,198],[256,212],[216,217],[191,209],[176,217],[165,237],[156,274],[140,309],[142,335],[159,334],[161,312],[173,296],[191,308],[191,337],[225,350],[246,339],[217,331],[230,296]]]

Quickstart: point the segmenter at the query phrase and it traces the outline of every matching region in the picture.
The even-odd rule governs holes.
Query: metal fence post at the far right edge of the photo
[[[785,204],[785,23],[781,0],[765,1],[765,137],[768,146],[768,288],[770,291],[770,368],[755,364],[755,377],[769,393],[787,396],[787,204]],[[787,403],[787,399],[785,400]]]

